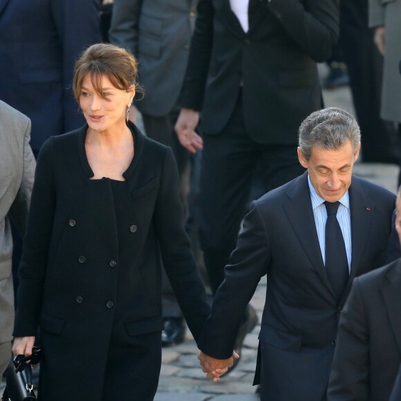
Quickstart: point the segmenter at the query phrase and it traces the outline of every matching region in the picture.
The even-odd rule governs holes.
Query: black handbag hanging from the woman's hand
[[[32,368],[30,364],[37,364],[41,359],[41,349],[34,348],[32,355],[24,357],[18,355],[11,361],[4,377],[6,389],[3,391],[1,401],[34,401],[37,400],[32,385]]]

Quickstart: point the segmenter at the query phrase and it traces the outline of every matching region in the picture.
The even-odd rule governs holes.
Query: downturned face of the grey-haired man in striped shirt
[[[360,146],[354,155],[351,140],[335,150],[323,149],[315,145],[310,159],[306,160],[298,147],[299,162],[308,169],[310,183],[321,198],[337,202],[351,185],[353,165],[360,153]]]

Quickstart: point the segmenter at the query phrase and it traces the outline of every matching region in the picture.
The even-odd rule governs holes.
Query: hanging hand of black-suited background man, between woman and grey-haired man
[[[196,150],[203,149],[203,140],[195,132],[198,122],[198,111],[191,109],[181,109],[176,122],[175,129],[178,140],[180,141],[180,144],[187,148],[191,153],[196,153]]]

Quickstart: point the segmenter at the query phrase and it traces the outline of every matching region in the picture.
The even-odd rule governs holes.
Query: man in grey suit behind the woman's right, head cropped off
[[[181,200],[186,206],[189,152],[178,142],[174,125],[178,97],[185,75],[189,43],[198,0],[115,0],[109,40],[131,50],[139,61],[138,77],[144,97],[136,103],[147,136],[171,147],[181,180]],[[163,346],[183,341],[183,315],[163,277]]]

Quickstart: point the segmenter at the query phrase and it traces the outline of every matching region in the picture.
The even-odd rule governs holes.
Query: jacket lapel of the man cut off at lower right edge
[[[397,265],[387,273],[388,281],[381,291],[389,315],[391,330],[393,330],[395,341],[401,352],[401,261],[396,263]]]

